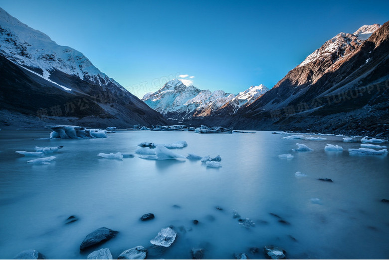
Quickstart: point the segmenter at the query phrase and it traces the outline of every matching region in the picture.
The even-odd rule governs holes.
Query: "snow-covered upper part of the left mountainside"
[[[124,88],[102,73],[81,52],[60,46],[41,31],[20,22],[0,8],[0,52],[12,62],[34,70],[45,79],[54,71],[76,75],[100,86]]]

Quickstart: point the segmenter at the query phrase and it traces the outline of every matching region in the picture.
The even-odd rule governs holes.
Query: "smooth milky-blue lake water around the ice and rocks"
[[[2,259],[27,249],[48,259],[86,259],[100,248],[109,248],[117,259],[127,249],[152,246],[150,240],[168,226],[178,232],[176,241],[149,258],[191,259],[192,248],[203,248],[205,259],[232,259],[240,253],[263,259],[266,245],[282,247],[289,259],[389,258],[389,204],[381,202],[389,199],[389,159],[350,156],[347,149],[360,143],[344,143],[336,136],[325,136],[327,141],[282,140],[284,135],[270,132],[118,131],[104,139],[38,140],[49,133],[0,131]],[[174,152],[220,155],[222,167],[137,155],[123,160],[97,156],[134,153],[140,142],[179,140],[188,147]],[[293,152],[296,143],[314,151]],[[325,152],[326,143],[344,151]],[[26,161],[34,157],[15,154],[60,145],[63,149],[47,165],[31,165]],[[278,158],[285,153],[294,158]],[[297,171],[307,176],[297,177]],[[255,227],[241,227],[232,218],[233,210],[252,219]],[[141,222],[146,213],[154,213],[155,219]],[[79,220],[66,225],[71,215]],[[100,227],[119,234],[80,253],[85,236]],[[250,253],[253,247],[259,252]]]

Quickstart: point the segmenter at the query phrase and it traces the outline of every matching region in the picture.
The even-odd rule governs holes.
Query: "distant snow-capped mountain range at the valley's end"
[[[169,119],[200,119],[207,116],[232,115],[268,90],[264,85],[251,86],[234,95],[223,90],[200,90],[174,79],[158,91],[147,93],[142,100]]]

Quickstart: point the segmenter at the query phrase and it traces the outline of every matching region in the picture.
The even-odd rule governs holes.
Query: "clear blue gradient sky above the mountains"
[[[200,89],[272,87],[337,33],[389,20],[389,1],[0,0],[138,97],[179,75]]]

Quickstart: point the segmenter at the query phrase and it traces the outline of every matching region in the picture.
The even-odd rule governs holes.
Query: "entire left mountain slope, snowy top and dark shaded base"
[[[129,127],[165,119],[98,70],[0,8],[0,125]]]

